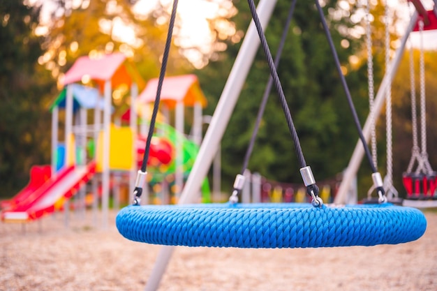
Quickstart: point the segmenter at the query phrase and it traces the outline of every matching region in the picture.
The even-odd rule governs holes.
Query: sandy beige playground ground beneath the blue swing
[[[437,212],[424,237],[396,246],[237,249],[177,247],[159,290],[437,290]],[[0,224],[0,291],[143,290],[161,246],[121,237],[91,214]]]

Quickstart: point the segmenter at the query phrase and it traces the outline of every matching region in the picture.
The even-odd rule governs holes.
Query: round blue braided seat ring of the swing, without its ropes
[[[117,215],[133,241],[169,246],[317,248],[401,244],[427,228],[421,211],[392,204],[322,208],[311,204],[129,206]]]

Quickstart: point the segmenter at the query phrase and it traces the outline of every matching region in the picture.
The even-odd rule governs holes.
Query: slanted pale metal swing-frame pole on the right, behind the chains
[[[372,112],[369,113],[369,116],[366,119],[366,123],[364,124],[363,135],[364,138],[366,139],[366,142],[369,142],[369,137],[371,133],[371,124],[373,121],[378,120],[381,107],[383,106],[385,100],[385,91],[387,91],[387,87],[390,85],[390,82],[397,71],[399,62],[402,59],[403,50],[405,49],[406,41],[408,40],[408,36],[410,36],[410,32],[413,31],[416,22],[417,22],[417,11],[411,17],[410,23],[406,28],[406,32],[402,36],[401,45],[397,49],[394,59],[392,60],[390,66],[386,70],[386,73],[383,77],[383,81],[380,84],[378,94],[376,94],[373,103],[373,110]],[[360,167],[360,163],[362,161],[363,156],[364,156],[364,149],[362,143],[358,141],[353,151],[353,155],[350,158],[349,165],[344,173],[343,180],[341,181],[339,192],[336,194],[334,203],[343,204],[346,201],[346,194],[348,193],[350,183],[352,183],[354,177],[357,174],[358,167]]]

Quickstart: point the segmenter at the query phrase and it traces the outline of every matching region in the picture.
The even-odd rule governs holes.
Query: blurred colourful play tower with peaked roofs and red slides
[[[163,99],[168,101],[168,108],[172,108],[171,105],[196,107],[195,112],[198,116],[195,119],[198,117],[196,120],[201,121],[201,108],[207,101],[197,77],[183,75],[168,77],[166,80],[163,86]],[[77,84],[79,82],[85,85]],[[154,80],[151,80],[148,88],[154,84]],[[116,125],[117,118],[112,115],[112,91],[119,89],[121,85],[130,89],[131,104],[121,117],[122,121],[128,122],[128,127]],[[73,204],[67,206],[64,202],[77,191],[77,205],[82,207],[85,204],[82,199],[87,191],[83,186],[97,172],[101,173],[101,176],[99,179],[93,179],[89,186],[94,199],[101,197],[103,221],[106,223],[110,190],[112,189],[114,197],[117,196],[118,199],[120,194],[117,191],[120,191],[122,184],[119,179],[126,181],[126,176],[129,176],[129,179],[134,177],[137,172],[135,166],[142,163],[145,154],[146,138],[142,137],[141,133],[145,128],[144,114],[149,102],[141,100],[142,98],[138,98],[140,102],[135,102],[138,91],[144,88],[145,82],[135,66],[120,52],[79,57],[64,75],[64,90],[50,106],[52,165],[31,168],[29,184],[15,197],[1,202],[1,220],[32,221],[57,209],[72,207]],[[197,107],[200,107],[200,110]],[[59,114],[59,110],[65,110],[65,114]],[[94,121],[91,124],[87,118],[87,110],[93,110]],[[64,137],[59,137],[59,117],[65,119],[64,124],[61,123],[65,126]],[[141,117],[141,122],[138,122],[138,117]],[[195,124],[198,130],[193,130],[193,133],[200,133],[201,137],[202,123]],[[183,131],[183,126],[180,131]],[[89,144],[92,144],[92,147],[88,147]],[[164,172],[169,168],[174,169],[175,166],[172,165],[175,164],[177,147],[173,144],[175,141],[165,136],[153,137],[148,164]],[[182,149],[185,147],[186,144]],[[133,151],[136,152],[136,156],[132,155]],[[194,158],[195,155],[187,153],[192,154],[193,151],[187,150],[184,152],[185,155],[181,156],[186,159]],[[182,162],[186,165],[185,160]],[[55,171],[59,172],[53,174]],[[118,183],[113,180],[115,178]],[[129,192],[132,193],[133,189]],[[97,203],[92,205],[93,211],[97,211]]]

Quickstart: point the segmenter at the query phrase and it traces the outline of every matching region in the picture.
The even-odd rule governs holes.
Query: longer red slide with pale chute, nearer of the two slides
[[[96,171],[96,163],[71,166],[45,181],[43,185],[24,197],[18,204],[1,212],[1,220],[6,222],[32,221],[63,207],[66,199],[75,195]]]

